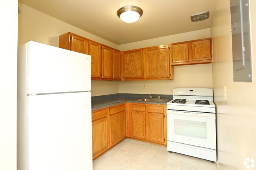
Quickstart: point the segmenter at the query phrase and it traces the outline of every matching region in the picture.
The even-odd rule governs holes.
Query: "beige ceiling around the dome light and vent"
[[[126,44],[209,28],[214,0],[19,0],[38,11],[109,40]],[[132,24],[122,22],[117,10],[135,5],[143,10]],[[190,16],[209,11],[210,17],[191,22]]]

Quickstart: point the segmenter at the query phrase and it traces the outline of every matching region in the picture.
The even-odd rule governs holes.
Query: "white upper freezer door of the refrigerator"
[[[27,42],[27,94],[91,91],[91,56]]]

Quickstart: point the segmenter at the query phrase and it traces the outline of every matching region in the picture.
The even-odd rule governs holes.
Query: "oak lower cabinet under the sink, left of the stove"
[[[127,136],[167,144],[166,105],[127,103]]]

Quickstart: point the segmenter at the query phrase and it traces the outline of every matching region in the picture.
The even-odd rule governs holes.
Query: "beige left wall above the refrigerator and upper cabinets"
[[[35,42],[58,47],[59,35],[72,32],[82,37],[100,42],[106,46],[118,49],[117,44],[71,26],[70,24],[46,15],[45,13],[41,13],[24,4],[19,3],[19,5],[22,7],[22,16],[19,16],[18,45],[33,40]]]

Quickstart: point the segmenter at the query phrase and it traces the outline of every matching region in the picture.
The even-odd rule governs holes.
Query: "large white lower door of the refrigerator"
[[[92,170],[91,92],[27,96],[27,170]]]

